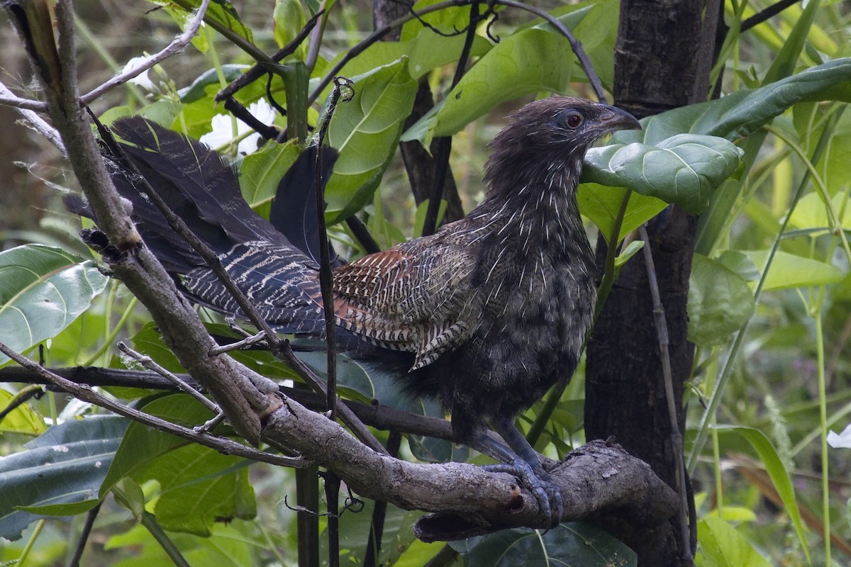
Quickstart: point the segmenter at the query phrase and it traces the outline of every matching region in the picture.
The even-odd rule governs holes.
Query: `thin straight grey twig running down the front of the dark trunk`
[[[653,252],[650,250],[650,239],[647,227],[642,225],[638,234],[644,241],[642,247],[644,265],[647,268],[647,279],[650,296],[653,298],[653,315],[656,326],[656,336],[659,338],[659,354],[662,360],[662,379],[665,383],[665,400],[668,403],[668,417],[671,420],[671,451],[674,451],[674,462],[677,474],[677,495],[680,497],[680,557],[692,560],[691,543],[688,538],[688,494],[686,492],[686,471],[683,455],[683,434],[680,433],[677,419],[677,400],[674,397],[674,377],[671,371],[671,353],[668,350],[668,322],[665,319],[665,308],[659,292],[659,282],[656,281],[656,267],[653,262]]]

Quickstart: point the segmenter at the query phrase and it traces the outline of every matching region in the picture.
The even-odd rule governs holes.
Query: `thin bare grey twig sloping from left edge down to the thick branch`
[[[117,413],[119,416],[128,417],[129,419],[140,422],[151,428],[173,434],[180,437],[180,439],[186,439],[192,443],[204,445],[205,447],[209,447],[210,449],[214,449],[215,451],[219,451],[225,455],[243,456],[247,459],[252,459],[258,462],[268,462],[280,467],[303,468],[310,464],[300,457],[272,455],[271,453],[266,453],[264,451],[257,451],[256,449],[247,447],[232,439],[227,439],[226,437],[214,437],[208,434],[198,434],[191,428],[185,428],[159,417],[146,414],[143,411],[136,410],[129,405],[123,405],[115,400],[111,400],[105,395],[95,392],[88,384],[78,384],[61,377],[60,375],[55,374],[54,372],[51,372],[37,364],[35,361],[26,358],[26,356],[18,353],[14,349],[10,349],[4,343],[0,343],[0,352],[14,360],[20,366],[36,373],[39,377],[42,377],[45,381],[54,385],[56,388],[60,388],[62,391],[71,394],[79,400],[98,405],[99,407],[105,408],[113,413]]]

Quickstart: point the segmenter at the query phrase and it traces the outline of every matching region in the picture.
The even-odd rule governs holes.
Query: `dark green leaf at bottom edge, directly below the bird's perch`
[[[451,541],[470,567],[511,565],[582,565],[629,567],[637,556],[605,531],[584,522],[568,522],[545,533],[527,528]]]

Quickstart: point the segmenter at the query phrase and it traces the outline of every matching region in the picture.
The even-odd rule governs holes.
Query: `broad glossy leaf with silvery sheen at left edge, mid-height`
[[[54,337],[89,309],[106,281],[93,262],[59,248],[0,252],[0,342],[21,352]],[[0,354],[0,365],[7,361]]]

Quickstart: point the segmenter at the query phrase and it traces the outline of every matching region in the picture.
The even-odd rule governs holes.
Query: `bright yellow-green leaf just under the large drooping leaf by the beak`
[[[621,203],[630,195],[630,190],[623,187],[608,187],[596,183],[580,184],[576,190],[576,201],[580,213],[591,218],[603,234],[606,241],[612,241],[614,221],[618,217]],[[620,224],[620,234],[617,241],[624,239],[639,226],[659,214],[668,204],[656,197],[643,196],[637,193],[630,195],[623,221]]]

